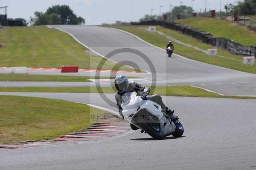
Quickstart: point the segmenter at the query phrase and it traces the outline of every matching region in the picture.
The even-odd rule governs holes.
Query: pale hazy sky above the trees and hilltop
[[[34,16],[35,11],[45,12],[49,6],[56,4],[69,5],[71,9],[83,18],[86,18],[86,25],[101,23],[114,23],[116,20],[137,21],[144,14],[159,14],[159,6],[163,6],[162,12],[169,11],[169,5],[191,6],[192,0],[0,0],[1,6],[9,6],[7,14],[10,18],[23,17],[29,20]],[[221,0],[222,9],[227,3],[234,3],[237,0]],[[195,0],[193,9],[199,11],[205,8],[205,0]],[[207,9],[220,10],[220,0],[207,0]],[[3,14],[0,10],[0,14]]]

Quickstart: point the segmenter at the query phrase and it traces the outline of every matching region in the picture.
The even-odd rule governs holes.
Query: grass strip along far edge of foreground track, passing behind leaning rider
[[[0,92],[71,92],[71,93],[114,93],[112,87],[0,87]],[[155,86],[150,94],[184,97],[256,99],[254,97],[222,96],[192,86]]]

